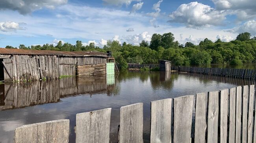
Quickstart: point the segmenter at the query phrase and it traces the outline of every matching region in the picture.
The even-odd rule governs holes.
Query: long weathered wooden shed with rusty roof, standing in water
[[[106,74],[106,53],[0,48],[0,81],[51,80],[61,76]]]

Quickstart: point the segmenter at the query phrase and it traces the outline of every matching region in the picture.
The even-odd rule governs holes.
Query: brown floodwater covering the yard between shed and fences
[[[202,74],[125,71],[115,76],[85,76],[0,85],[0,143],[13,142],[22,125],[70,119],[75,142],[76,114],[112,108],[110,142],[117,143],[120,107],[143,102],[143,138],[150,139],[150,101],[250,85],[254,81]]]

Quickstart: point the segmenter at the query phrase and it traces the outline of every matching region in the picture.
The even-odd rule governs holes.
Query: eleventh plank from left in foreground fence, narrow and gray
[[[247,142],[248,85],[243,86],[242,143]]]

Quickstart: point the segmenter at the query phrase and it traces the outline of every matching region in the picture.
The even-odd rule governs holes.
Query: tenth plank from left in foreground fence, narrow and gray
[[[242,87],[236,87],[236,143],[241,142]]]

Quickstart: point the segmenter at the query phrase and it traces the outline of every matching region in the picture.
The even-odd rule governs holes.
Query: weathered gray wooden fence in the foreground
[[[254,102],[254,85],[152,101],[150,142],[255,143]],[[110,115],[111,108],[77,114],[76,143],[108,143]],[[15,143],[67,143],[68,127],[69,120],[24,125]],[[143,103],[121,107],[119,143],[143,143]]]

